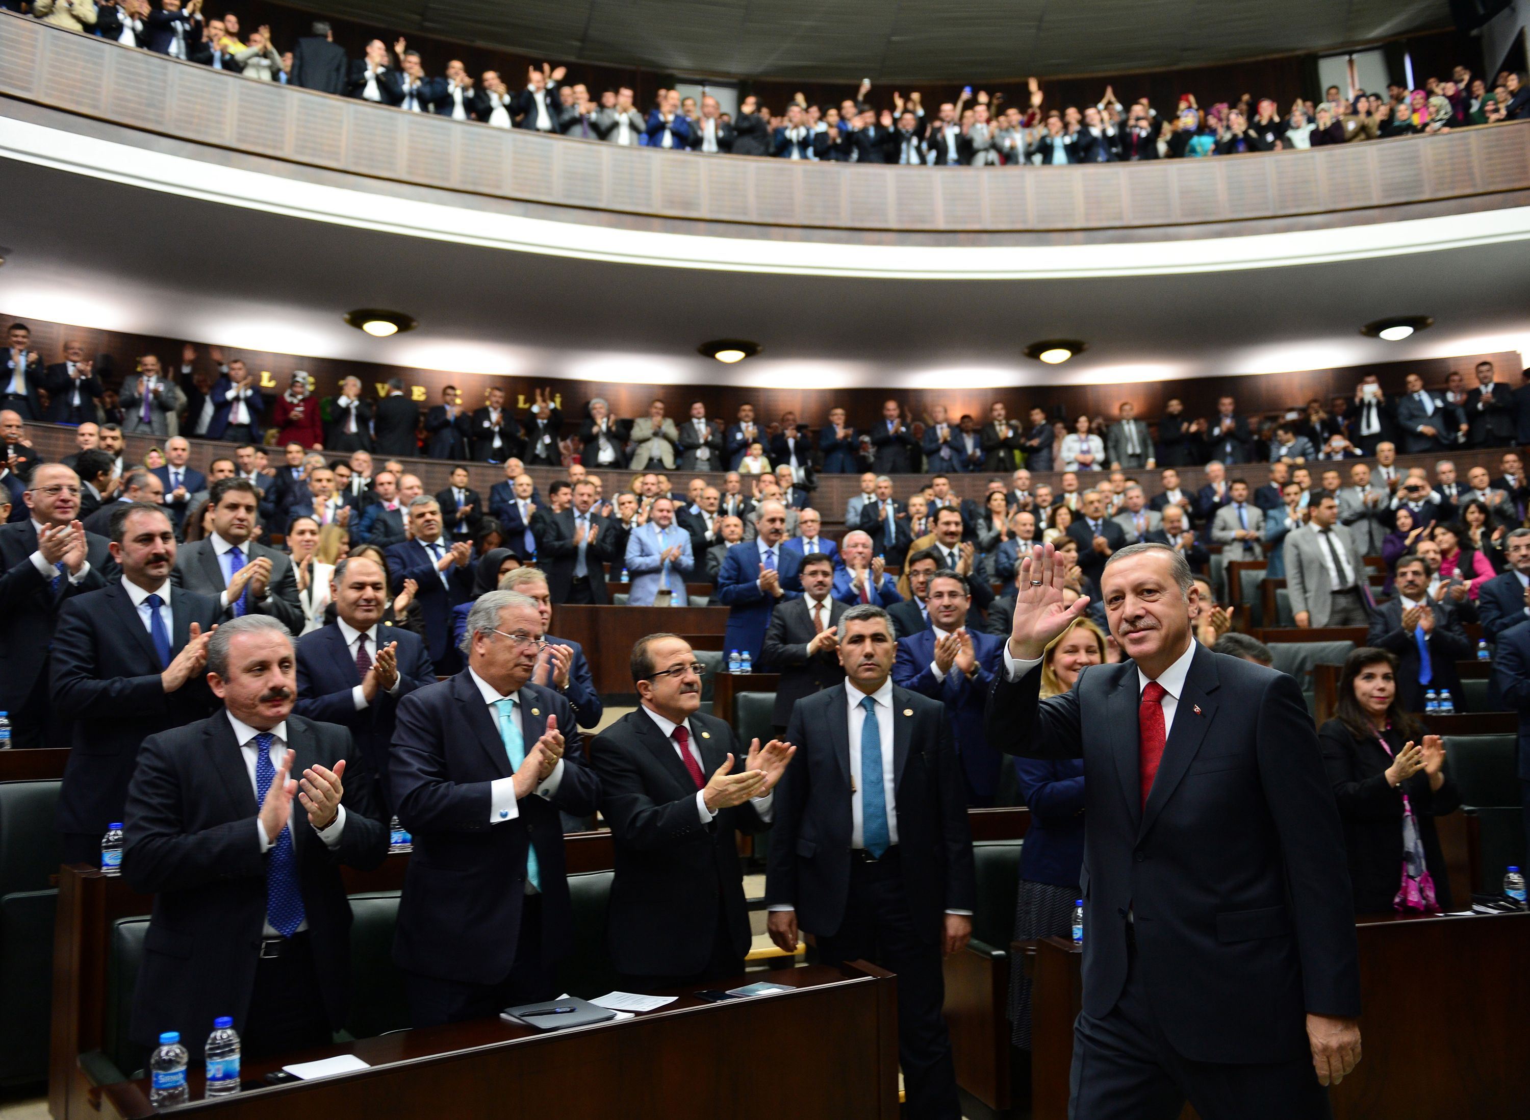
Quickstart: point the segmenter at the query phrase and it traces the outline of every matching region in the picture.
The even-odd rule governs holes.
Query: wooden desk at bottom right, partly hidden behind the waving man
[[[1336,1120],[1525,1115],[1530,1016],[1518,978],[1530,955],[1530,913],[1383,915],[1356,926],[1365,1057],[1330,1092]],[[1037,943],[1033,1120],[1068,1115],[1080,959],[1062,938]],[[1409,975],[1423,987],[1398,982]]]

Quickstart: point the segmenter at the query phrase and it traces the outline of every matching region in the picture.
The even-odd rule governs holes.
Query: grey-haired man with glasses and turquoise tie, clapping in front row
[[[532,682],[543,647],[537,603],[491,591],[468,612],[467,669],[399,701],[390,777],[415,855],[393,962],[415,1027],[558,993],[574,939],[558,814],[592,814],[600,779],[568,701]]]

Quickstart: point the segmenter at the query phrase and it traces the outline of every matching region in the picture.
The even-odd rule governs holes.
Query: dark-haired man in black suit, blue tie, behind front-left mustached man
[[[216,704],[202,666],[225,612],[216,598],[174,586],[170,516],[145,502],[122,506],[112,554],[122,581],[66,600],[54,635],[54,707],[75,721],[58,793],[64,863],[101,858],[144,739],[203,719]]]

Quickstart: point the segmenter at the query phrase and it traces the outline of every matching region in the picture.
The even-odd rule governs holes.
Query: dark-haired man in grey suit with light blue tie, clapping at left
[[[219,606],[242,615],[271,615],[301,633],[303,604],[297,597],[292,560],[251,540],[260,491],[248,479],[220,479],[208,491],[213,536],[176,551],[171,578],[177,588],[217,597]]]

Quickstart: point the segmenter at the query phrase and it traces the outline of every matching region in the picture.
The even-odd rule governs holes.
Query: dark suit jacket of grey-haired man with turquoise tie
[[[600,779],[584,763],[574,713],[562,696],[528,684],[517,693],[517,708],[528,750],[548,716],[557,716],[566,744],[563,777],[551,799],[531,793],[516,817],[491,825],[490,783],[514,771],[468,670],[398,705],[393,797],[415,838],[393,939],[401,969],[459,984],[505,979],[516,961],[532,846],[542,878],[542,961],[568,953],[574,930],[558,811],[595,812]]]

